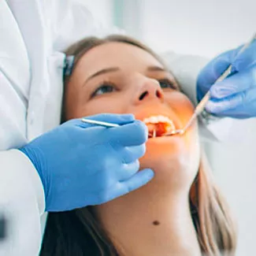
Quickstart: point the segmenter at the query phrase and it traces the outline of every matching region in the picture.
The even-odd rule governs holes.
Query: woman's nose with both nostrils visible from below
[[[136,102],[139,103],[154,98],[162,100],[164,98],[163,91],[161,90],[158,80],[147,78],[147,80],[143,81],[143,84],[139,89]]]

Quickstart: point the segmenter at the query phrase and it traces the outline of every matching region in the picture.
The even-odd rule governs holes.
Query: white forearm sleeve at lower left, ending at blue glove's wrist
[[[0,211],[7,219],[1,256],[36,256],[41,244],[40,215],[44,212],[41,180],[20,150],[0,152]]]

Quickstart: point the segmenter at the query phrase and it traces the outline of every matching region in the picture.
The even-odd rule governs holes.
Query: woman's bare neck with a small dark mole
[[[189,210],[188,192],[167,194],[155,191],[158,190],[145,186],[98,206],[98,216],[119,254],[201,255]]]

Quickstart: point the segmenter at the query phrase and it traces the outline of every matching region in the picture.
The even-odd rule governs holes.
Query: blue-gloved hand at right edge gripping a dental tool
[[[256,117],[256,42],[236,57],[241,47],[214,58],[199,73],[198,101],[210,90],[207,112],[222,117]],[[232,74],[215,83],[230,64],[233,66]]]

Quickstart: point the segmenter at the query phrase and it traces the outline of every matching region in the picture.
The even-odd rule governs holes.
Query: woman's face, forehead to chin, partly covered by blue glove
[[[66,90],[68,120],[97,113],[133,113],[141,121],[168,117],[176,128],[183,128],[193,113],[173,75],[146,50],[128,43],[105,43],[89,50]],[[146,146],[140,169],[154,169],[155,183],[190,187],[199,163],[197,124],[182,136],[150,138]]]

